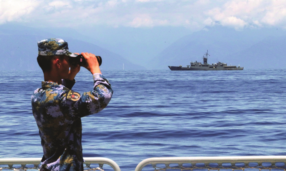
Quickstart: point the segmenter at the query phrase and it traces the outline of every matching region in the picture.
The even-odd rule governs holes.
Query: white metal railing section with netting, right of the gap
[[[141,171],[144,166],[152,164],[155,171],[167,169],[193,170],[193,169],[232,169],[246,168],[281,169],[286,171],[286,156],[225,156],[225,157],[154,157],[141,161],[135,171]],[[157,166],[165,164],[165,166]],[[175,164],[170,166],[170,164]]]

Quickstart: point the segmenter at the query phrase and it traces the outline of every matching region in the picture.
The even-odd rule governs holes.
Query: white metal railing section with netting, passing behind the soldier
[[[27,169],[37,169],[42,158],[0,158],[0,165],[8,165],[8,167],[0,167],[0,170],[8,168],[14,170],[27,170]],[[99,164],[98,168],[90,168],[89,170],[101,170],[103,164],[108,164],[114,171],[121,171],[118,164],[109,158],[104,157],[84,157],[85,168],[90,168],[90,164]],[[14,164],[21,164],[21,168],[13,168]],[[34,167],[28,168],[27,164],[33,164]]]

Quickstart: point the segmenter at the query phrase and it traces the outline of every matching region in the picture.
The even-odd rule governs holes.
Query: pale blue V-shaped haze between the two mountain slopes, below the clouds
[[[146,66],[147,62],[182,36],[192,33],[185,27],[110,27],[94,26],[89,29],[43,28],[47,32],[72,37],[96,44],[123,56],[134,64]]]

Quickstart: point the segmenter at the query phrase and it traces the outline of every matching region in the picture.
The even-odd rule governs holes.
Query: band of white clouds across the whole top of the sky
[[[184,26],[199,30],[221,24],[286,27],[286,1],[276,0],[0,0],[0,24]]]

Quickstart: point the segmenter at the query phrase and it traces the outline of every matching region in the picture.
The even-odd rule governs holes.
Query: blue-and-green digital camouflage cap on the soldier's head
[[[66,55],[76,57],[77,54],[69,52],[67,42],[60,38],[49,38],[38,42],[40,56]]]

